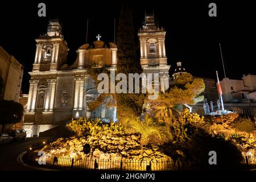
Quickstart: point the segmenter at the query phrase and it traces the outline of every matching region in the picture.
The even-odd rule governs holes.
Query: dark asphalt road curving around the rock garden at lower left
[[[33,168],[23,166],[17,162],[17,157],[26,151],[29,146],[51,138],[27,138],[26,140],[14,141],[0,146],[0,171],[35,171]]]

